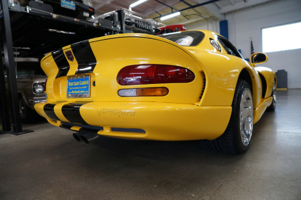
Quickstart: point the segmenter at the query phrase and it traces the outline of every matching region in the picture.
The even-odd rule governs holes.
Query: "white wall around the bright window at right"
[[[228,20],[229,40],[241,49],[244,58],[250,57],[250,37],[255,52],[262,51],[261,28],[301,21],[301,0],[279,0],[249,9],[238,10],[225,15]],[[293,42],[294,36],[283,35],[287,42]],[[277,42],[277,41],[275,41]],[[288,88],[301,88],[301,49],[267,53],[268,61],[262,65],[285,69],[288,76]]]

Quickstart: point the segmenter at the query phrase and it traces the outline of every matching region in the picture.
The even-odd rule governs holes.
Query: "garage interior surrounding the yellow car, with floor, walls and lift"
[[[128,9],[133,2],[92,0],[94,17]],[[263,65],[279,72],[284,69],[287,79],[278,77],[285,86],[278,87],[276,110],[265,112],[254,124],[250,149],[243,154],[208,151],[199,141],[100,136],[86,144],[73,138],[74,131],[44,118],[21,123],[14,62],[39,61],[41,52],[108,32],[125,32],[124,21],[114,21],[112,27],[103,20],[95,26],[91,17],[74,22],[62,14],[49,17],[16,9],[3,8],[1,24],[5,36],[1,71],[8,70],[12,85],[3,83],[1,73],[0,199],[301,199],[301,48],[267,52]],[[184,24],[188,30],[222,33],[225,27],[220,22],[226,21],[228,39],[244,58],[250,57],[250,41],[255,52],[262,52],[262,28],[301,21],[299,0],[147,0],[131,9],[142,18],[157,20],[181,10],[181,15],[161,21],[160,26]],[[65,28],[76,34],[41,32],[43,28]],[[300,33],[283,37],[298,42]],[[23,48],[27,46],[31,50]],[[13,94],[5,96],[4,88]],[[4,97],[13,106],[4,106]]]

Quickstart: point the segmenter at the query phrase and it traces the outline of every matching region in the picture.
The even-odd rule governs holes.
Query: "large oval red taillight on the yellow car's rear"
[[[194,73],[184,67],[163,64],[139,64],[123,67],[117,82],[121,85],[191,82]]]

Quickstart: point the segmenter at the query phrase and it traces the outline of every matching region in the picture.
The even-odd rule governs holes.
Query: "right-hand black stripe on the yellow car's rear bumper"
[[[79,108],[85,103],[68,103],[63,105],[62,113],[72,123],[88,124],[80,115]]]

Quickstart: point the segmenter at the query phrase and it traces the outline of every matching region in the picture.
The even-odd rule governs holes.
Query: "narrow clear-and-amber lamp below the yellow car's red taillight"
[[[166,87],[148,87],[148,88],[131,88],[119,89],[119,96],[165,96],[169,92]]]

